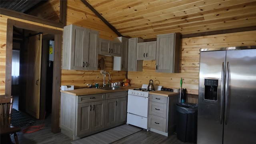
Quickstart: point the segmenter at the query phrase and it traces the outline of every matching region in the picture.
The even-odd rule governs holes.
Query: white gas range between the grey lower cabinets
[[[148,128],[148,96],[150,90],[148,84],[142,84],[142,88],[128,90],[127,124],[138,126],[146,131]],[[155,90],[161,90],[162,86],[154,86]]]

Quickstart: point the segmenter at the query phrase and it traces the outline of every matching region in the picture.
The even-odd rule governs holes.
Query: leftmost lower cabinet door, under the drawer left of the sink
[[[76,136],[79,136],[91,131],[92,104],[91,102],[78,104],[77,109]]]

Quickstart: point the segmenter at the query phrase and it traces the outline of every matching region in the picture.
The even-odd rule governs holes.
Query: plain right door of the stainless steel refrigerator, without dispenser
[[[256,49],[228,50],[224,144],[256,143]],[[198,106],[199,107],[199,106]]]

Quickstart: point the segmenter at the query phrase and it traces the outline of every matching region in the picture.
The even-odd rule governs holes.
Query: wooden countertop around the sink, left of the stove
[[[138,87],[122,86],[119,90],[102,90],[99,88],[78,88],[75,90],[60,90],[60,92],[64,92],[66,94],[71,94],[74,96],[83,96],[83,95],[89,95],[89,94],[102,94],[102,93],[109,93],[109,92],[123,92],[133,88],[138,88]]]

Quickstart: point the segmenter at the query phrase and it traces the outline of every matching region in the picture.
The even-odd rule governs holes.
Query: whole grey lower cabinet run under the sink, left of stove
[[[61,92],[61,132],[73,140],[126,123],[127,91],[74,96]]]

